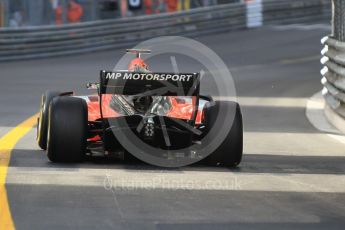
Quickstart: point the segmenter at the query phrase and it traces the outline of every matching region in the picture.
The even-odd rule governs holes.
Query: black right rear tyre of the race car
[[[222,109],[227,112],[222,113]],[[231,114],[231,117],[226,117]],[[225,139],[217,149],[209,155],[205,161],[209,165],[220,165],[225,167],[236,167],[241,163],[243,155],[243,123],[241,109],[238,103],[230,101],[209,102],[204,107],[204,123],[208,131],[214,134],[217,130],[212,130],[217,119],[218,121],[232,121],[231,128]],[[211,134],[212,135],[212,134]]]

